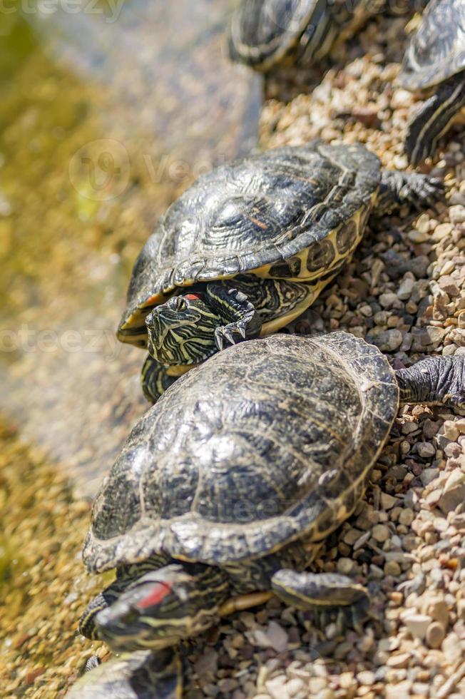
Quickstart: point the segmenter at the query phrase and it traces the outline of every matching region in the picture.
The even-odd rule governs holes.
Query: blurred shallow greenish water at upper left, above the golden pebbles
[[[232,4],[0,14],[0,411],[86,494],[146,407],[143,353],[114,335],[133,260],[178,193],[256,143]]]

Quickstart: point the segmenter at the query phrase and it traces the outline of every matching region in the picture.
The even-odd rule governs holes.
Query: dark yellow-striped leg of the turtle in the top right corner
[[[465,106],[465,71],[441,83],[409,123],[404,150],[412,165],[434,155],[439,138]]]

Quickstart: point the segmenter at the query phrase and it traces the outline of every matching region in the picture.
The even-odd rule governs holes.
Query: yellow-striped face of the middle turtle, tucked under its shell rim
[[[215,354],[220,317],[202,292],[170,297],[145,318],[148,351],[161,364],[199,364]]]

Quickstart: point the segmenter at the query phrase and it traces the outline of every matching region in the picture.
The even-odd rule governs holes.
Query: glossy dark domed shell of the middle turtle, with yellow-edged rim
[[[168,208],[141,250],[118,337],[143,345],[146,313],[177,287],[250,273],[300,281],[321,276],[329,253],[330,261],[347,256],[379,180],[379,159],[364,146],[322,141],[267,150],[203,175]],[[338,249],[329,241],[322,246],[336,229]]]

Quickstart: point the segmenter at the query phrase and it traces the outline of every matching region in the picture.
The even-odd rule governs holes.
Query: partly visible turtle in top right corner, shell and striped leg
[[[434,155],[439,138],[465,107],[465,3],[431,0],[412,37],[399,83],[433,96],[409,123],[404,148],[413,165]]]

